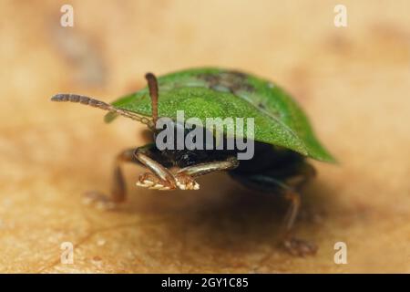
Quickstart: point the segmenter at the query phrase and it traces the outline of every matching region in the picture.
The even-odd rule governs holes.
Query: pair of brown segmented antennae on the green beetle
[[[104,101],[93,99],[90,97],[77,95],[77,94],[56,94],[54,97],[51,98],[52,101],[70,101],[70,102],[78,102],[81,104],[85,104],[87,106],[91,106],[94,108],[98,108],[101,110],[108,110],[110,113],[114,114],[115,116],[120,115],[127,117],[131,120],[138,120],[139,122],[147,125],[149,130],[156,131],[155,125],[158,120],[158,80],[152,73],[147,73],[145,75],[147,79],[148,86],[149,86],[149,97],[151,98],[151,109],[152,114],[151,117],[145,117],[142,115],[138,115],[130,110],[123,110],[114,107]]]

